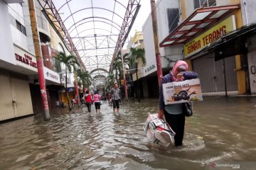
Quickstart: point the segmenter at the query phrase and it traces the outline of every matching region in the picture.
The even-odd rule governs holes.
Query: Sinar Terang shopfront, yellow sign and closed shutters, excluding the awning
[[[198,37],[184,45],[185,59],[191,60],[193,71],[197,72],[201,79],[203,92],[238,91],[236,79],[235,57],[228,57],[215,61],[215,52],[199,53],[204,47],[214,42],[220,36],[235,30],[235,16],[229,16],[220,23],[206,30]],[[225,75],[223,74],[225,72]]]

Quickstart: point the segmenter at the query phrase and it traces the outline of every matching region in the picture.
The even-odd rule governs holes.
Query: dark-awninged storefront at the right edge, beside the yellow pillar
[[[251,23],[206,47],[206,51],[215,51],[215,60],[229,60],[230,56],[241,55],[241,65],[237,72],[246,72],[247,92],[256,93],[256,23]]]

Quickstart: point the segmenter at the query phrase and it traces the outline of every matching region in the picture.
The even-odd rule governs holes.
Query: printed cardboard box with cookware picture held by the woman
[[[163,84],[164,104],[203,101],[199,79]]]

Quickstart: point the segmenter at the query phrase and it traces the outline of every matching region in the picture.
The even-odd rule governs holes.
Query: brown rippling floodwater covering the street
[[[0,125],[0,169],[209,169],[210,163],[256,162],[256,98],[207,96],[186,118],[183,147],[146,140],[142,125],[157,99],[122,103],[114,114],[54,111]],[[255,168],[255,166],[254,166]]]

